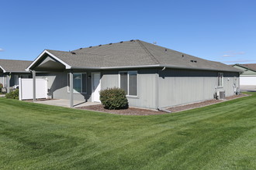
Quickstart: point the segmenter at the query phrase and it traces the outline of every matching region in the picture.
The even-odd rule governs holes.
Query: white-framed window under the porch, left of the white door
[[[70,75],[67,73],[67,92],[70,92]],[[73,92],[87,93],[87,73],[73,73]]]

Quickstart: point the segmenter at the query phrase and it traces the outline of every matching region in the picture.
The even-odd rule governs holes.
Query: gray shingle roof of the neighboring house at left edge
[[[13,60],[13,59],[0,59],[0,66],[5,72],[26,72],[26,68],[32,61],[26,60]]]

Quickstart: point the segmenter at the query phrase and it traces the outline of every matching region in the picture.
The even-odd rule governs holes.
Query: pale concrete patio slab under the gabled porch
[[[36,101],[36,104],[48,104],[48,105],[54,105],[54,106],[61,106],[61,107],[69,107],[69,100],[66,99],[54,99],[54,100],[43,100],[43,101]],[[74,100],[74,107],[85,107],[85,106],[91,106],[96,105],[100,103],[95,102],[81,102]]]

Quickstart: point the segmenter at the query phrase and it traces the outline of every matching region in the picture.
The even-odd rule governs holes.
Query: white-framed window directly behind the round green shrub
[[[138,96],[137,71],[120,71],[119,88],[125,90],[127,96]]]

